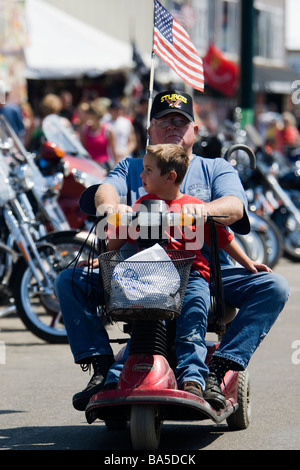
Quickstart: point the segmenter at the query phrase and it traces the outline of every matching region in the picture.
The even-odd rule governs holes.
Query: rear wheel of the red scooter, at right
[[[239,372],[237,397],[239,407],[226,420],[228,427],[235,431],[247,429],[251,419],[250,378],[247,369]]]

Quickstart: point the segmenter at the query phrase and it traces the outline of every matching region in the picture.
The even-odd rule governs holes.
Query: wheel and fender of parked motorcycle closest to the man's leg
[[[45,237],[43,241],[45,245],[42,245],[39,251],[44,268],[52,281],[52,290],[50,293],[40,291],[31,269],[21,258],[15,266],[13,283],[15,305],[22,322],[34,335],[48,343],[65,344],[68,343],[68,337],[59,301],[54,292],[54,281],[59,272],[75,259],[83,240],[74,232],[70,234],[57,232]],[[92,242],[88,241],[80,260],[88,259],[93,249]],[[39,273],[42,279],[42,273],[40,271]]]

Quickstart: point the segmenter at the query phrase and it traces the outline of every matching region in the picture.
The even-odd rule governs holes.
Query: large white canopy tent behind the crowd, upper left
[[[132,47],[41,0],[26,0],[26,78],[97,76],[133,66]]]

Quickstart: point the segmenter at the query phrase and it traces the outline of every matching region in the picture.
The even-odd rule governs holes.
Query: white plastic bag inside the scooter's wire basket
[[[159,263],[155,266],[156,261],[167,261],[163,272],[160,272]],[[179,273],[165,250],[157,243],[116,266],[111,283],[111,306],[178,307],[180,295],[176,293],[179,287]]]

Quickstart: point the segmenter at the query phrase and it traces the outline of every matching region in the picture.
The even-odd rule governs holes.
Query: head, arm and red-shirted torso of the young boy
[[[160,144],[149,145],[143,159],[144,171],[141,173],[143,187],[147,194],[140,197],[133,206],[133,211],[137,211],[140,205],[146,199],[158,199],[166,202],[170,212],[179,212],[183,208],[183,212],[188,209],[188,204],[199,204],[197,216],[203,218],[205,223],[207,220],[207,212],[203,201],[194,196],[182,194],[180,185],[184,178],[189,165],[189,157],[186,151],[176,144]],[[184,207],[183,207],[184,206]],[[192,229],[189,227],[189,231]],[[241,264],[247,270],[256,273],[257,271],[268,271],[271,269],[264,264],[254,263],[240,248],[239,244],[234,240],[234,236],[230,234],[225,227],[217,225],[219,247],[224,249],[235,261]],[[170,231],[171,232],[171,231]],[[166,234],[169,237],[168,249],[184,250],[186,244],[189,243],[189,251],[194,251],[195,261],[193,267],[198,269],[202,276],[209,281],[209,263],[201,255],[201,241],[193,240],[190,233],[185,234],[183,229],[182,238],[174,240],[171,233]],[[108,250],[117,250],[124,243],[130,240],[126,239],[110,239],[107,244]],[[207,226],[204,227],[204,241],[209,243]],[[192,246],[194,245],[194,248]],[[196,248],[195,248],[196,247]]]

